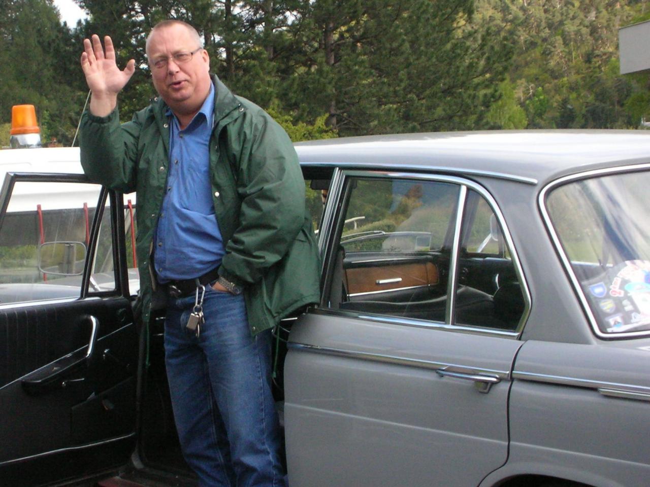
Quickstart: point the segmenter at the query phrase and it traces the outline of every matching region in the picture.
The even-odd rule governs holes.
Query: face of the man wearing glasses
[[[153,86],[167,105],[179,114],[198,112],[210,91],[210,59],[205,49],[198,49],[185,63],[178,64],[172,58],[177,53],[190,53],[198,47],[196,37],[180,24],[157,29],[149,37],[147,56]],[[161,58],[167,58],[166,65],[155,68],[154,63]]]

